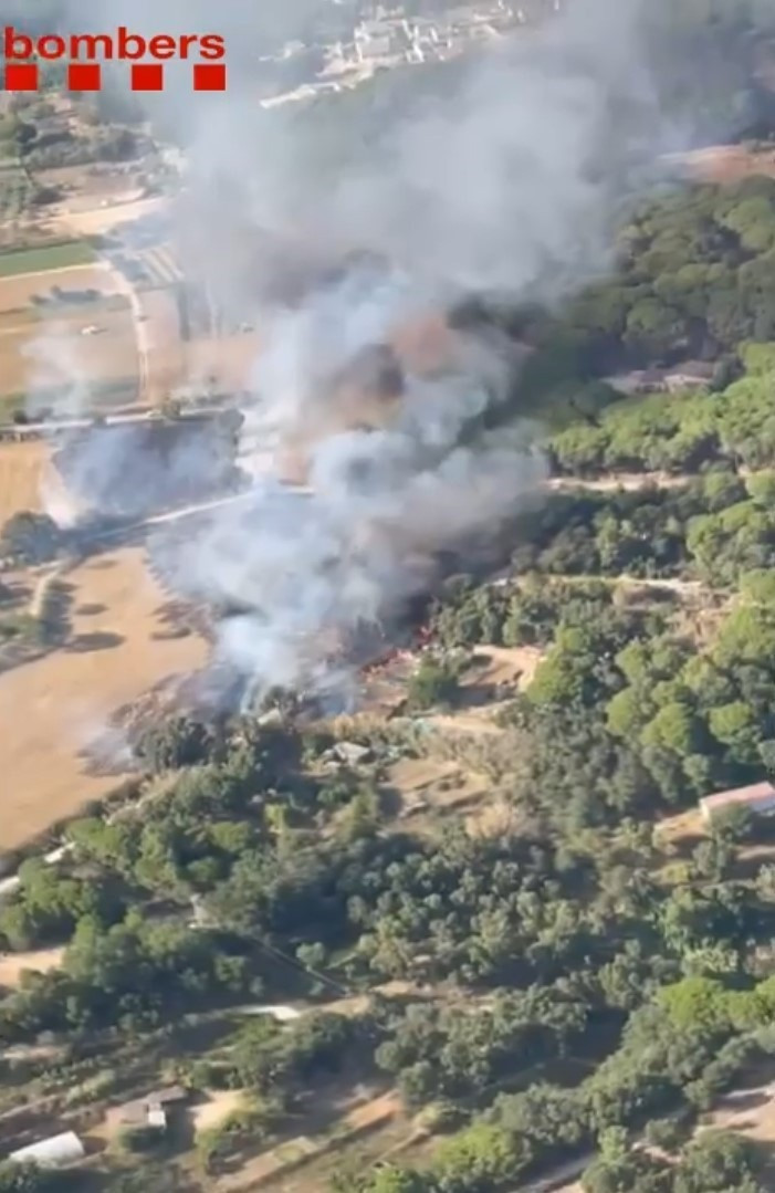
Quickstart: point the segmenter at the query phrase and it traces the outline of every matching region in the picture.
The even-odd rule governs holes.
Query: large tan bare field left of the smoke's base
[[[85,752],[111,715],[206,657],[196,637],[155,639],[165,594],[140,548],[87,561],[67,575],[72,635],[55,654],[0,676],[0,849],[13,849],[105,796],[118,778],[87,773]],[[122,742],[116,741],[120,766]]]

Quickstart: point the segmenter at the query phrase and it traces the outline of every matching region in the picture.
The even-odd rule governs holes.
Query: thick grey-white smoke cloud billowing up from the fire
[[[304,23],[309,8],[298,6]],[[438,98],[430,88],[404,98],[367,144],[340,128],[358,98],[311,117],[258,104],[254,60],[291,36],[293,12],[247,0],[179,0],[163,13],[150,0],[75,0],[68,19],[79,31],[160,32],[163,14],[163,32],[225,33],[227,95],[192,95],[179,73],[155,103],[190,152],[176,216],[184,266],[261,327],[261,400],[244,410],[255,492],[155,554],[184,592],[231,610],[218,653],[253,688],[341,693],[352,676],[331,668],[329,631],[347,637],[390,618],[428,582],[440,550],[491,532],[528,500],[542,465],[527,426],[461,445],[507,395],[516,361],[501,342],[460,338],[444,376],[410,371],[371,432],[336,427],[327,382],[460,293],[557,299],[603,271],[622,187],[658,148],[661,124],[638,0],[569,0],[540,30],[445,68]],[[323,149],[321,115],[333,130]],[[250,286],[277,237],[310,256],[361,249],[390,266],[354,267],[281,308]],[[310,444],[316,426],[327,429]],[[305,435],[311,495],[298,497],[272,474],[284,444]]]

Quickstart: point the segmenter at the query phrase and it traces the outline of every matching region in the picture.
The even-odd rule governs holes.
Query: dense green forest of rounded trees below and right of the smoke
[[[775,347],[740,361],[719,395],[663,404],[680,419],[684,401],[757,384],[764,403]],[[663,419],[649,441],[674,434]],[[355,730],[367,761],[335,772],[327,723],[145,729],[137,790],[69,824],[57,864],[25,861],[2,904],[7,948],[67,946],[0,1003],[6,1046],[52,1034],[76,1068],[97,1050],[110,1090],[130,1063],[111,1057],[167,1040],[190,1088],[253,1090],[256,1109],[200,1146],[211,1175],[281,1139],[331,1083],[367,1080],[442,1138],[420,1167],[345,1164],[340,1193],[498,1193],[595,1149],[589,1193],[765,1187],[745,1141],[693,1125],[775,1055],[775,840],[744,814],[678,849],[653,829],[775,774],[768,463],[708,453],[672,488],[571,486],[522,517],[508,583],[447,583],[410,681],[418,707],[454,709],[477,648],[542,654],[478,761],[509,809],[497,834],[396,821],[390,760],[427,748],[411,717]],[[622,601],[625,575],[699,583],[707,624],[670,589]],[[388,982],[436,996],[385,997]],[[327,1009],[342,991],[372,991],[368,1009]],[[186,1046],[203,1015],[299,995],[320,1009],[298,1024]],[[632,1148],[644,1132],[653,1154]]]

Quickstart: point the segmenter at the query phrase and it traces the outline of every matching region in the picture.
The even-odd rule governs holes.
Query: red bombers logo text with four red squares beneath
[[[70,91],[100,91],[101,62],[130,62],[132,91],[163,91],[166,61],[191,62],[194,91],[225,91],[225,41],[218,33],[141,37],[119,25],[114,33],[44,33],[4,29],[5,89],[37,91],[39,63],[66,62]]]

